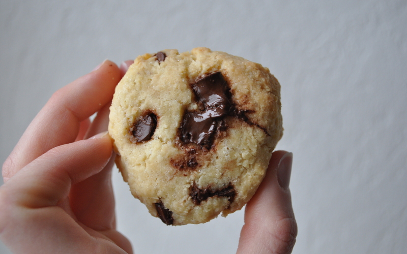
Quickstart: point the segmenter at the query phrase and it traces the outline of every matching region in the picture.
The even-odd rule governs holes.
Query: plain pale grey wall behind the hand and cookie
[[[406,27],[405,0],[1,0],[0,161],[53,92],[104,59],[205,46],[259,62],[281,84],[293,253],[402,253]],[[244,210],[165,226],[114,172],[118,229],[135,252],[236,251]]]

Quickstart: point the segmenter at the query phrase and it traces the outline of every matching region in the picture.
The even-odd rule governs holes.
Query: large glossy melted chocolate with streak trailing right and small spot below
[[[266,128],[251,122],[247,117],[246,113],[254,111],[242,110],[236,107],[231,100],[230,88],[221,72],[202,76],[191,83],[190,86],[194,92],[198,109],[186,110],[183,115],[178,130],[178,144],[184,151],[187,147],[191,147],[188,144],[196,144],[201,149],[203,148],[203,151],[209,151],[215,138],[222,137],[222,133],[227,129],[224,119],[226,116],[236,117],[250,125],[257,126],[269,135]],[[173,166],[179,169],[193,168],[184,166],[187,164],[187,160],[182,163],[177,160],[177,163],[173,164]]]

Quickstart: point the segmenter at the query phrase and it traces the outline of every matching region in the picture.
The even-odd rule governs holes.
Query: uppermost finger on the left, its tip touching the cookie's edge
[[[115,63],[105,60],[97,70],[57,90],[3,164],[4,181],[48,150],[74,142],[80,122],[110,103],[121,78]]]

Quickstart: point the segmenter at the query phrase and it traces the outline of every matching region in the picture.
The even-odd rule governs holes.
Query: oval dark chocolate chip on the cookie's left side
[[[149,141],[157,127],[157,116],[150,112],[141,116],[130,129],[131,141],[139,143]]]

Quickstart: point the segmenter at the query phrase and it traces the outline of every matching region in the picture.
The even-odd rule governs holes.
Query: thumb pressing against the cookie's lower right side
[[[288,188],[293,154],[273,152],[266,177],[247,203],[238,253],[291,253],[297,223]]]

